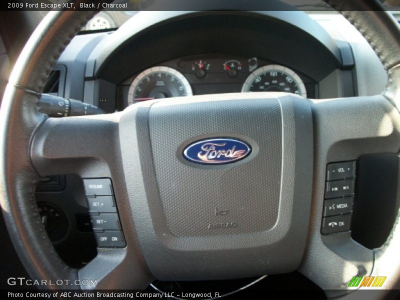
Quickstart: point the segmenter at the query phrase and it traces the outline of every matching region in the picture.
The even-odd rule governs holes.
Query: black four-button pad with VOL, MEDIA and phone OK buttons
[[[325,196],[321,233],[350,230],[354,201],[355,160],[329,163],[326,166]]]

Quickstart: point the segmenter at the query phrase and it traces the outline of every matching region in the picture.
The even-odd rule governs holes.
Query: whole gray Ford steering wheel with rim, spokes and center
[[[398,216],[387,241],[373,250],[348,231],[320,230],[326,164],[356,159],[366,148],[400,149],[400,31],[378,1],[328,3],[384,64],[382,94],[328,100],[273,92],[204,95],[65,118],[48,118],[38,98],[60,53],[94,12],[49,12],[15,64],[0,111],[1,207],[30,276],[70,280],[50,288],[142,289],[154,277],[220,279],[298,269],[328,296],[356,294],[348,294],[352,276],[386,276],[377,298],[398,287]],[[241,141],[251,151],[223,164],[183,157],[197,141],[216,137],[232,138],[237,147]],[[342,141],[355,142],[349,148]],[[58,257],[34,199],[39,177],[67,173],[110,178],[126,243],[99,248],[81,269]],[[76,279],[91,283],[67,283]]]

